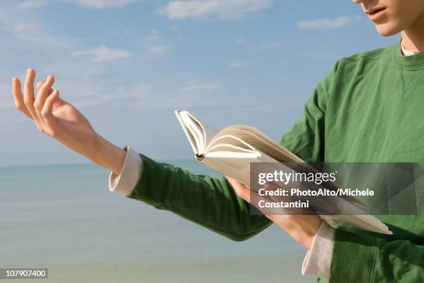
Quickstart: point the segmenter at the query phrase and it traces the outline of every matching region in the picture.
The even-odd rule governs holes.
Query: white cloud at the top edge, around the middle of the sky
[[[274,0],[188,0],[171,1],[159,14],[169,19],[240,19],[245,15],[269,8]]]

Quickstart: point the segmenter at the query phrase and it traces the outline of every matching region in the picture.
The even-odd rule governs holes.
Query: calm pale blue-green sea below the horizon
[[[94,165],[0,168],[0,268],[47,267],[45,282],[315,282],[300,275],[306,251],[275,225],[230,241],[109,192],[108,175]]]

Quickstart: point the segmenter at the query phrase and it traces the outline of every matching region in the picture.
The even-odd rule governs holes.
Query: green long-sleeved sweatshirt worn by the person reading
[[[335,64],[280,143],[306,162],[424,162],[424,53],[400,43]],[[267,228],[224,178],[193,175],[144,155],[130,194],[236,241]],[[377,216],[383,236],[339,227],[330,282],[424,282],[424,216]]]

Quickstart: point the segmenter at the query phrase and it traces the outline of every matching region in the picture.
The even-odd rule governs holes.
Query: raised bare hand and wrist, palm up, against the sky
[[[49,75],[46,80],[37,83],[37,96],[34,81],[35,71],[28,69],[22,93],[19,79],[12,79],[16,108],[33,120],[39,131],[92,162],[120,173],[125,151],[100,137],[80,111],[60,98],[59,90],[52,88],[55,82],[53,76]]]

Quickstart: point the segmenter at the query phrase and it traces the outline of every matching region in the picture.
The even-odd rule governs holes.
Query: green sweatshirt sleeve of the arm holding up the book
[[[336,229],[329,282],[424,282],[423,239],[390,240]]]

